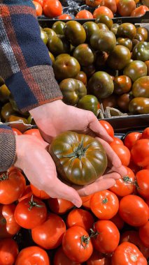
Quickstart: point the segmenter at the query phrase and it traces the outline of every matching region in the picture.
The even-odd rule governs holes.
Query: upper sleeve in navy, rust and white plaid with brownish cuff
[[[62,98],[31,0],[0,0],[0,75],[22,112]]]

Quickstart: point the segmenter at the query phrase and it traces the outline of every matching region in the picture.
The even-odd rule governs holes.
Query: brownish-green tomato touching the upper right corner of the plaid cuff
[[[55,63],[53,63],[53,70],[55,73],[55,78],[57,80],[62,80],[65,78],[73,78],[78,75],[80,72],[80,64],[78,61],[72,56],[61,56],[55,59]]]

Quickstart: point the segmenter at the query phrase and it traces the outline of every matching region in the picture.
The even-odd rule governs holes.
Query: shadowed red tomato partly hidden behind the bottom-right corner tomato
[[[130,242],[136,245],[137,248],[142,252],[143,256],[148,259],[149,257],[149,248],[146,248],[145,245],[143,245],[141,239],[139,238],[139,232],[134,230],[129,230],[124,232],[120,236],[120,243],[122,242]]]

